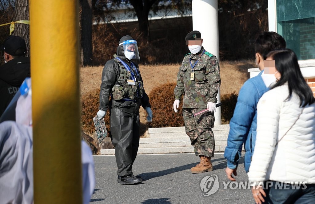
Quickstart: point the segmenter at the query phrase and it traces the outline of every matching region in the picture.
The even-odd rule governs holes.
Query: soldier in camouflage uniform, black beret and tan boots
[[[212,171],[211,157],[214,157],[215,140],[212,132],[215,117],[216,95],[221,85],[220,67],[217,58],[204,50],[199,31],[186,36],[191,53],[185,55],[177,74],[174,89],[174,111],[177,112],[180,97],[184,94],[183,117],[186,134],[189,136],[200,163],[191,169],[192,173]],[[208,108],[209,112],[194,117],[194,114]]]

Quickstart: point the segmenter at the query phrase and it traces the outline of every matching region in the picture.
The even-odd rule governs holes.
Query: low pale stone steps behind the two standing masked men
[[[215,152],[223,152],[227,144],[229,125],[215,125]],[[138,154],[193,153],[185,127],[149,128],[149,137],[140,138]],[[102,149],[101,155],[115,154],[114,149]]]

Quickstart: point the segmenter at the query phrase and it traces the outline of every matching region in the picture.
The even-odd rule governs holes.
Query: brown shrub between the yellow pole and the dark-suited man
[[[95,89],[81,98],[81,128],[84,133],[92,135],[95,131],[93,117],[95,117],[97,111],[99,111],[100,105],[100,89]],[[108,111],[105,116],[105,123],[108,135],[110,135],[109,127],[109,114]]]

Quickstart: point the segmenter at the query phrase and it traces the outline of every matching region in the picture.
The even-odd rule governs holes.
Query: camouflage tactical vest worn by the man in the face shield
[[[120,75],[112,88],[112,98],[114,100],[138,101],[143,96],[143,83],[140,81],[140,73],[135,73],[128,64],[120,58],[114,58],[119,64]],[[132,66],[135,65],[131,62]],[[135,69],[137,69],[135,67]]]

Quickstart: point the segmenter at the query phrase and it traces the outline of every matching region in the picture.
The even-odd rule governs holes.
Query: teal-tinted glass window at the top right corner
[[[299,60],[315,59],[315,1],[277,0],[277,32]]]

